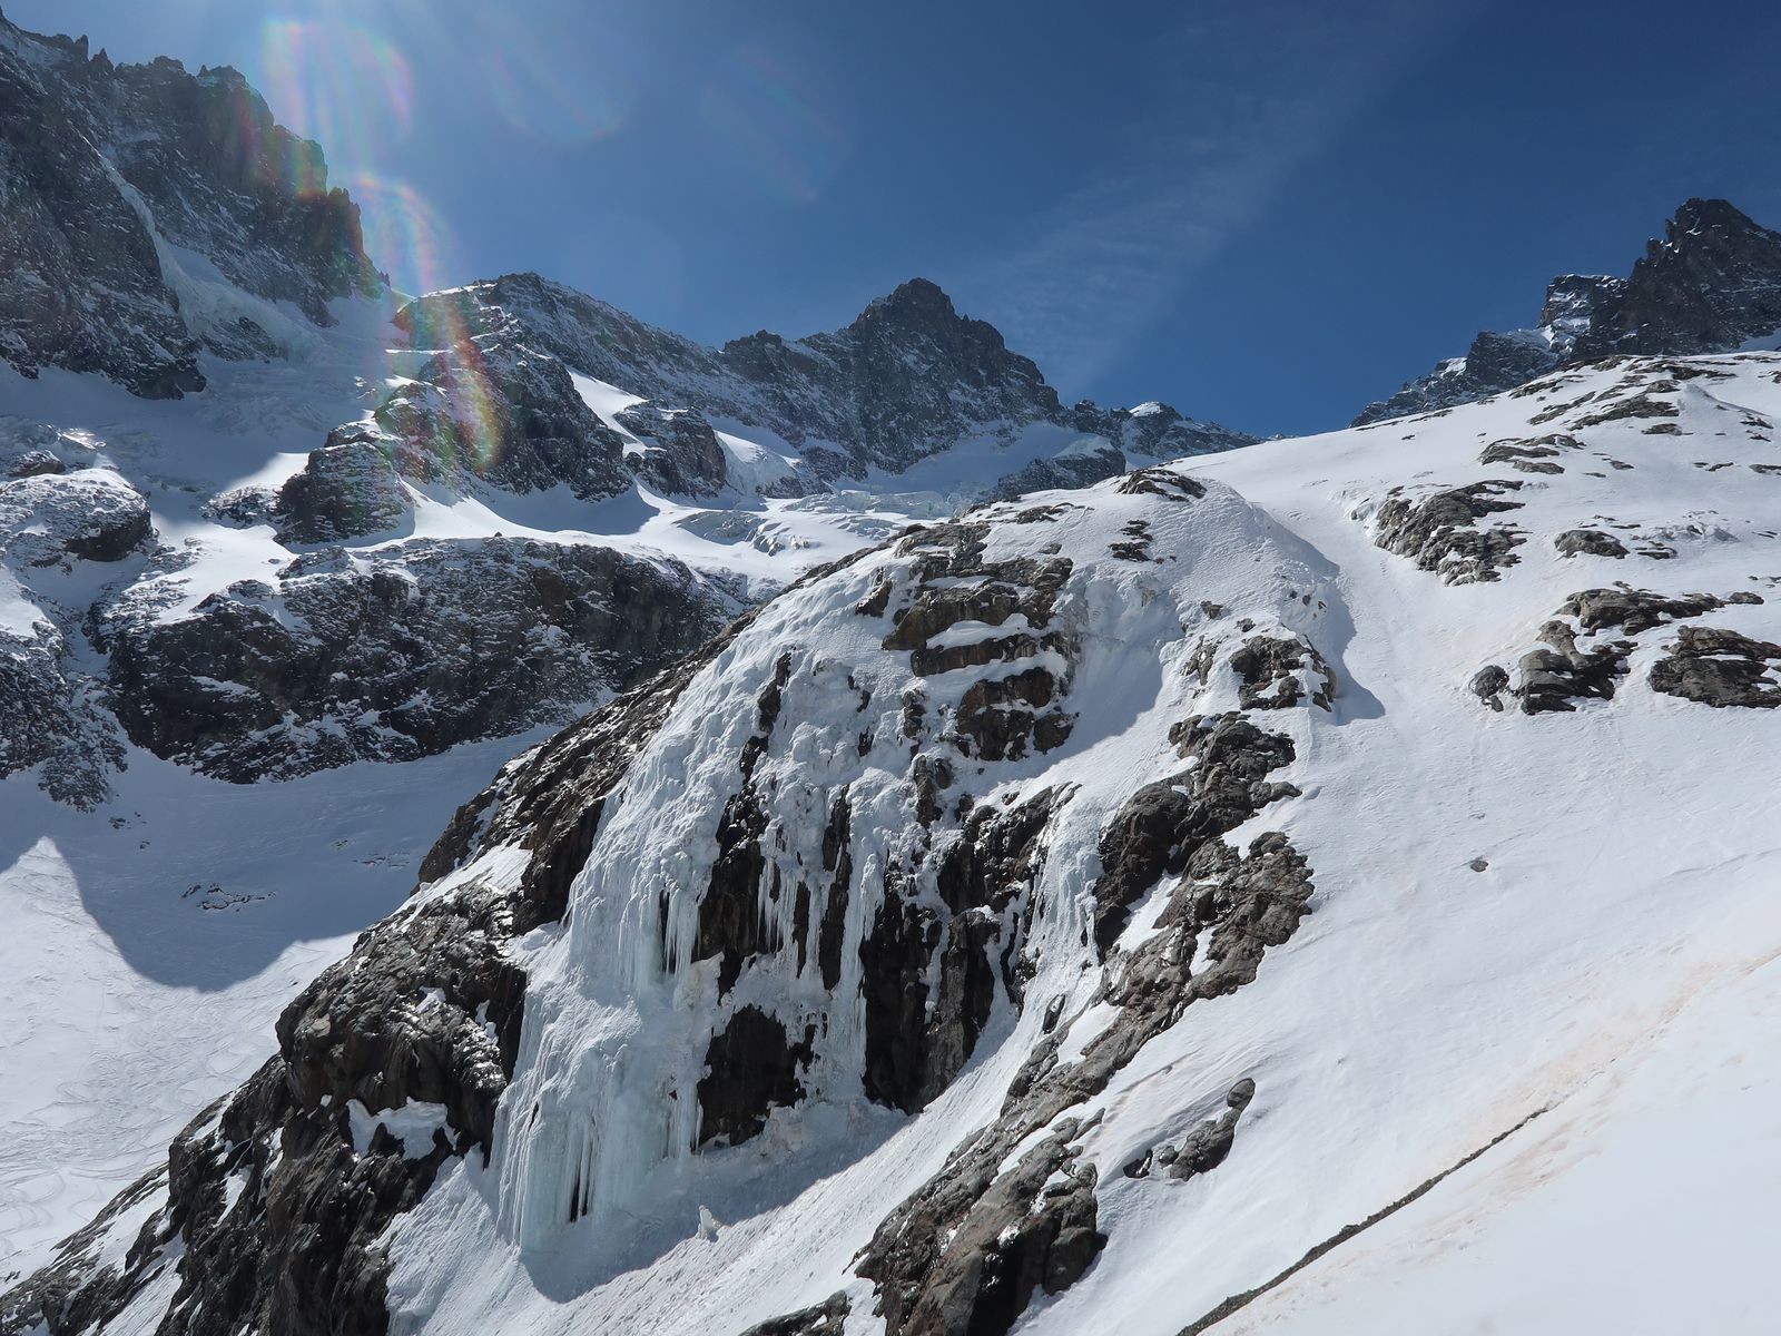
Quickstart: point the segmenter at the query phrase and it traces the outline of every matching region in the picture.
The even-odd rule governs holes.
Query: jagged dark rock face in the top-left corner
[[[294,301],[378,290],[358,208],[328,189],[321,150],[272,123],[233,69],[176,61],[114,66],[85,39],[37,37],[0,20],[0,356],[96,371],[146,397],[203,388],[196,351],[267,356],[246,315],[182,312],[162,240],[230,281]]]

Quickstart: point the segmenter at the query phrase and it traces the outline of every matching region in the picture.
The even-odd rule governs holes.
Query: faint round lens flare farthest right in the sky
[[[805,43],[744,43],[705,87],[707,132],[769,196],[812,203],[853,150],[828,68]]]

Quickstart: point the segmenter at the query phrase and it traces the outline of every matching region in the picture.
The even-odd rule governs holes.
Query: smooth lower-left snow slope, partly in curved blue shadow
[[[401,903],[451,809],[525,741],[260,786],[132,752],[98,812],[0,786],[0,1277],[260,1065],[290,994]]]

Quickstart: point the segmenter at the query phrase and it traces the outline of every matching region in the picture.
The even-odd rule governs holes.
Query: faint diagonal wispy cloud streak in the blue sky
[[[1065,392],[1086,387],[1396,69],[1475,7],[1204,5],[1165,50],[1134,57],[1134,78],[1167,110],[1134,121],[1118,160],[955,276],[956,289]]]

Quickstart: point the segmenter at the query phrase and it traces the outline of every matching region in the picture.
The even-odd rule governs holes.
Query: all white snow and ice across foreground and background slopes
[[[228,310],[208,274],[173,258],[191,294]],[[388,312],[342,303],[337,314],[337,330],[305,328],[315,342],[294,340],[287,362],[207,362],[212,388],[173,404],[0,369],[0,429],[59,433],[61,447],[141,490],[160,542],[191,556],[160,577],[178,582],[175,609],[191,606],[289,559],[269,529],[212,524],[203,502],[276,486],[383,383]],[[1076,561],[1060,616],[1083,645],[1069,743],[967,780],[980,802],[1076,786],[1035,891],[1040,969],[1026,1006],[1001,999],[971,1065],[914,1117],[862,1097],[858,1017],[825,1012],[821,1096],[775,1112],[752,1142],[695,1153],[691,1088],[716,985],[709,964],[663,967],[654,916],[666,903],[668,941],[686,941],[700,857],[782,652],[798,659],[762,761],[778,784],[775,816],[809,834],[823,818],[812,794],[851,784],[855,834],[866,834],[848,969],[873,908],[869,844],[889,857],[912,823],[894,782],[907,764],[894,714],[908,663],[882,648],[882,622],[851,611],[907,558],[885,550],[777,600],[700,673],[620,784],[568,926],[520,944],[533,983],[495,1154],[486,1169],[452,1161],[397,1218],[394,1329],[734,1336],[846,1288],[850,1336],[878,1331],[855,1252],[996,1117],[1051,999],[1065,1017],[1086,1012],[1085,1026],[1106,1021],[1092,1010],[1099,976],[1081,944],[1097,835],[1136,784],[1179,768],[1170,723],[1234,707],[1227,670],[1202,688],[1184,661],[1197,638],[1232,636],[1238,616],[1304,634],[1336,675],[1332,711],[1261,720],[1291,734],[1298,759],[1275,778],[1302,796],[1231,835],[1284,830],[1313,868],[1313,912],[1254,983],[1195,1003],[1086,1110],[1104,1115],[1079,1144],[1101,1174],[1110,1242],[1072,1288],[1035,1300],[1021,1331],[1174,1336],[1535,1113],[1216,1331],[1763,1329],[1756,1277],[1781,1243],[1781,711],[1655,693],[1662,627],[1639,636],[1614,700],[1569,714],[1491,713],[1466,689],[1476,668],[1512,668],[1533,648],[1569,593],[1614,581],[1758,593],[1767,602],[1699,623],[1781,639],[1781,472],[1753,468],[1781,467],[1769,426],[1781,420],[1781,356],[1687,362],[1724,378],[1658,395],[1676,404],[1662,420],[1676,435],[1651,435],[1653,419],[1639,417],[1576,426],[1639,378],[1656,379],[1655,365],[1564,372],[1439,415],[1195,460],[1181,468],[1208,495],[1190,504],[1101,485],[1038,497],[1063,508],[1056,522],[1001,524],[994,559],[1060,543]],[[581,388],[602,415],[627,397]],[[1530,422],[1583,394],[1594,403]],[[794,456],[743,424],[716,426],[750,479]],[[1478,463],[1489,442],[1551,431],[1583,447],[1560,456],[1560,476]],[[910,518],[946,517],[1031,458],[1079,447],[1063,435],[967,444],[907,476],[801,501],[417,495],[415,533],[671,552],[764,591]],[[1448,586],[1375,547],[1371,517],[1391,488],[1485,477],[1523,483],[1523,508],[1487,520],[1526,534],[1500,581]],[[1156,561],[1108,554],[1136,520]],[[1630,525],[1615,529],[1630,547],[1662,543],[1674,558],[1560,558],[1553,534],[1580,525]],[[46,599],[77,604],[82,579],[96,577],[0,566],[0,616],[28,627]],[[972,634],[958,627],[953,643]],[[850,673],[873,689],[867,723],[880,725],[866,757],[853,746],[860,720],[835,704]],[[928,679],[930,707],[956,704],[978,677]],[[283,1003],[395,908],[452,807],[527,741],[246,787],[132,752],[116,796],[93,814],[57,807],[30,777],[0,784],[11,1008],[0,1277],[45,1261],[267,1056]],[[497,850],[481,871],[513,866]],[[1129,932],[1143,930],[1140,907]],[[817,1006],[791,964],[744,974],[737,999]],[[1209,1117],[1243,1076],[1257,1096],[1224,1165],[1186,1185],[1120,1174],[1143,1147]],[[365,1115],[367,1128],[395,1119],[404,1147],[431,1117]],[[591,1185],[588,1210],[565,1224],[577,1177]]]

